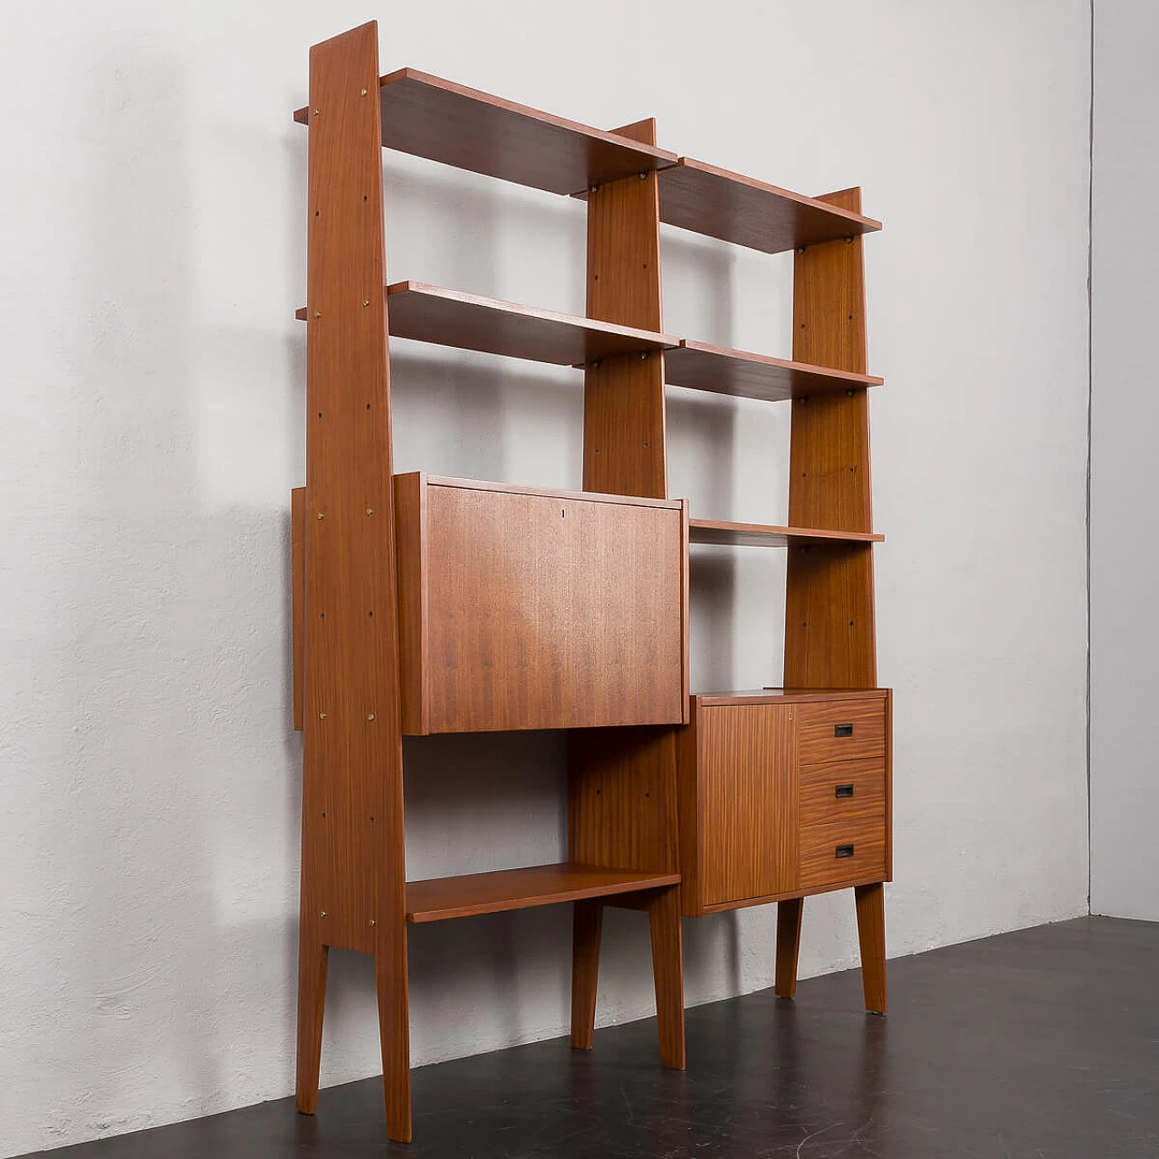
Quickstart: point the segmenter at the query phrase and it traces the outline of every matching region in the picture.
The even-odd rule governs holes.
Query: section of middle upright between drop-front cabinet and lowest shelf
[[[676,732],[576,729],[568,736],[568,857],[676,873]]]

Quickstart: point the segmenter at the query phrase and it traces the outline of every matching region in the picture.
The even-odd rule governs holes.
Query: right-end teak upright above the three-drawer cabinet
[[[821,201],[861,211],[861,190]],[[793,357],[866,373],[861,239],[824,242],[794,263]],[[789,523],[872,531],[869,408],[866,391],[793,403]],[[877,684],[873,548],[792,547],[785,607],[786,688]]]

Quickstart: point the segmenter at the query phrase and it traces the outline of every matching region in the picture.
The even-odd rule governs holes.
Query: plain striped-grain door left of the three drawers
[[[793,710],[782,705],[702,709],[701,899],[781,894],[797,879],[797,770]]]

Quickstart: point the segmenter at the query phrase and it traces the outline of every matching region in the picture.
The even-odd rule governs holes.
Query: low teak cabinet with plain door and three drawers
[[[888,881],[885,690],[701,695],[677,734],[684,912]]]

